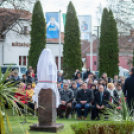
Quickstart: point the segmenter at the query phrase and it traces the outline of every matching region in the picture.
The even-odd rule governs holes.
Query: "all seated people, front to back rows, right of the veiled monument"
[[[57,84],[61,96],[61,105],[57,110],[59,118],[64,117],[64,110],[62,110],[64,106],[67,119],[69,115],[76,112],[78,119],[86,120],[90,111],[93,120],[99,119],[99,115],[105,108],[119,106],[124,80],[125,78],[119,78],[118,75],[115,75],[114,79],[108,78],[107,73],[103,73],[102,77],[96,79],[90,69],[85,76],[76,70],[70,82],[64,83],[63,80]]]

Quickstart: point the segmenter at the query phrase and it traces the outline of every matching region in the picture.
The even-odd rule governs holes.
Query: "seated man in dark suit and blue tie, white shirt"
[[[110,93],[104,90],[102,85],[99,86],[99,92],[94,95],[94,107],[92,109],[92,119],[99,118],[99,113],[105,107],[108,107],[108,102],[110,101]]]

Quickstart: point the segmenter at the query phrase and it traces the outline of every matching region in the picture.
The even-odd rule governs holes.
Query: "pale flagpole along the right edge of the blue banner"
[[[58,58],[58,70],[61,70],[61,10],[59,11],[59,58]]]

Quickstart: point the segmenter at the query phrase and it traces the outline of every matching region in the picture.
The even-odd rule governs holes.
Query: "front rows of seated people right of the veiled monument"
[[[81,81],[78,78],[78,81]],[[79,86],[79,88],[78,88]],[[83,119],[86,120],[90,108],[92,109],[92,119],[99,118],[99,114],[107,107],[113,108],[109,102],[119,105],[119,98],[122,94],[121,84],[118,83],[115,89],[113,83],[103,85],[103,80],[99,80],[97,84],[79,83],[73,81],[69,88],[68,83],[63,84],[63,89],[58,83],[58,89],[61,96],[61,105],[58,108],[58,115],[63,118],[63,110],[65,109],[65,117],[74,113],[76,110],[78,119],[82,119],[82,110],[84,111]],[[118,94],[119,93],[119,94]]]

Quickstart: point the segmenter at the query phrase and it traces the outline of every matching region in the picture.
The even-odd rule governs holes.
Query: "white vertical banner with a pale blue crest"
[[[81,32],[81,39],[91,39],[91,16],[90,15],[78,15],[79,27]]]

